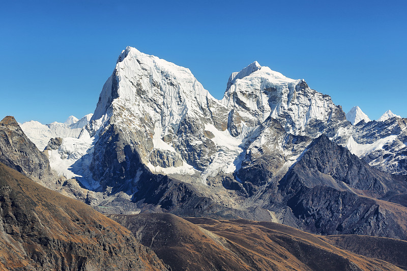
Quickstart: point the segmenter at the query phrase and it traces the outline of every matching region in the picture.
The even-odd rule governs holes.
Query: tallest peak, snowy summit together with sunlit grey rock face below
[[[103,86],[88,128],[93,136],[103,127],[99,138],[109,134],[108,140],[110,133],[120,133],[120,148],[139,153],[153,172],[182,166],[202,170],[216,150],[205,127],[226,130],[224,111],[189,69],[127,47]]]

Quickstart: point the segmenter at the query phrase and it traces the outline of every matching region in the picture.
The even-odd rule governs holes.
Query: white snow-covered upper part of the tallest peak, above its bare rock
[[[210,117],[209,104],[222,106],[188,68],[127,47],[103,86],[92,122],[106,121],[115,113],[118,116],[115,119],[120,121],[124,119],[123,113],[128,112],[135,117],[132,123],[135,129],[141,129],[144,117],[150,117],[149,124],[159,122],[165,133],[176,129],[186,114]],[[103,125],[102,122],[92,129]]]

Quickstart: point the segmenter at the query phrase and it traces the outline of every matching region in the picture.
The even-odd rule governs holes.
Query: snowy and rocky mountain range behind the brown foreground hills
[[[189,69],[132,47],[93,114],[0,123],[0,162],[126,227],[164,212],[407,240],[406,143],[406,118],[345,114],[257,62],[217,100]]]

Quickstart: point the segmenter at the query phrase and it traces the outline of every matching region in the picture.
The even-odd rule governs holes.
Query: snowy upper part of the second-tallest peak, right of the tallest
[[[295,135],[316,137],[325,132],[332,137],[339,126],[346,126],[342,109],[328,95],[309,88],[304,80],[261,67],[231,82],[222,103],[231,110],[228,125],[234,136],[260,125],[269,116]]]

